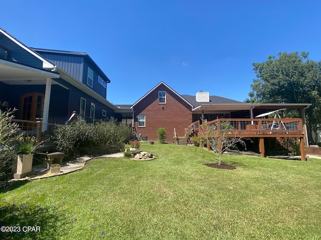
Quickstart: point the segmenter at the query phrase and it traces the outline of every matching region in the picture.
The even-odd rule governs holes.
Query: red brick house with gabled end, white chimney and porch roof
[[[203,91],[196,92],[196,95],[181,95],[162,81],[134,104],[116,105],[116,107],[118,107],[117,112],[122,113],[122,121],[132,124],[143,140],[156,141],[157,129],[164,127],[167,131],[166,142],[173,142],[174,129],[177,136],[185,136],[187,128],[195,122],[202,124],[216,119],[242,118],[247,124],[252,123],[253,118],[259,114],[281,108],[299,109],[304,116],[304,108],[309,105],[308,103],[244,103]],[[304,118],[303,124],[305,124]],[[306,134],[304,135],[306,137]]]

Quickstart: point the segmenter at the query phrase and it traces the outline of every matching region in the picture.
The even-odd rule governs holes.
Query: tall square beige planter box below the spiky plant
[[[19,179],[28,176],[32,173],[32,158],[33,154],[18,155],[14,160],[14,178]]]

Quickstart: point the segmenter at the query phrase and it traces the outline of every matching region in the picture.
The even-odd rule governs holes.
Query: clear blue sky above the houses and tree
[[[6,0],[1,27],[31,47],[87,52],[132,104],[161,81],[243,101],[253,62],[321,59],[319,0]]]

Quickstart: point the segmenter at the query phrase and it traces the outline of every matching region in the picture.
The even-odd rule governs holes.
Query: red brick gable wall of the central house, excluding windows
[[[158,91],[166,91],[166,103],[158,103]],[[166,142],[173,142],[174,128],[179,136],[184,136],[184,128],[192,123],[192,107],[163,84],[133,108],[134,125],[138,133],[147,136],[148,140],[157,141],[157,129],[165,127]],[[145,115],[145,127],[138,127],[137,115]]]

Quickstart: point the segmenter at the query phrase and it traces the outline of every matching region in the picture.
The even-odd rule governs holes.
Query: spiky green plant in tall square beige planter
[[[17,154],[14,159],[14,178],[22,178],[29,175],[32,171],[33,153],[40,146],[34,136],[21,136],[15,145]]]

